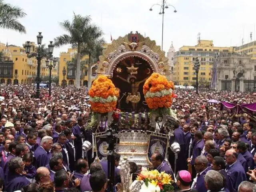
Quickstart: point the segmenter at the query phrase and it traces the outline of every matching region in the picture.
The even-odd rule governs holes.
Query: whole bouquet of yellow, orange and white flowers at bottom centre
[[[173,192],[174,180],[172,176],[165,172],[159,173],[157,170],[142,171],[136,178],[143,181],[140,192]]]

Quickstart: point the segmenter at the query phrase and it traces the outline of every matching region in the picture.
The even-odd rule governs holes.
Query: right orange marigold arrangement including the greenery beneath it
[[[167,116],[172,115],[170,106],[172,105],[174,83],[168,81],[165,76],[153,73],[143,86],[143,94],[146,103],[151,109],[151,123],[155,126],[156,117],[163,117],[163,122],[167,121]]]

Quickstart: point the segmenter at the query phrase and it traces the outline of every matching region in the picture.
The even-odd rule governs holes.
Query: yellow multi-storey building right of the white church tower
[[[173,81],[177,85],[195,85],[196,72],[194,64],[199,59],[199,86],[208,86],[211,81],[214,54],[233,52],[233,47],[216,47],[212,40],[199,40],[196,46],[182,46],[174,54]]]

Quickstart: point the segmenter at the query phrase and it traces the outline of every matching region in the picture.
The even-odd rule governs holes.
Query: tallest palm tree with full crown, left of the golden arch
[[[68,32],[62,36],[54,38],[55,46],[59,47],[66,44],[71,44],[73,47],[77,48],[76,56],[76,68],[80,69],[81,62],[81,50],[82,46],[88,42],[88,26],[90,25],[91,18],[90,16],[81,16],[74,13],[72,22],[65,20],[60,23],[60,26]],[[80,70],[76,70],[76,87],[80,87]]]

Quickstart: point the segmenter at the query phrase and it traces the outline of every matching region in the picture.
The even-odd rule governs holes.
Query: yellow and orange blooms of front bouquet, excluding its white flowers
[[[174,183],[172,176],[165,172],[159,173],[158,170],[142,171],[137,176],[136,180],[144,181],[146,186],[148,186],[148,183],[154,186],[159,186],[161,192],[171,191],[174,189],[172,186]]]

